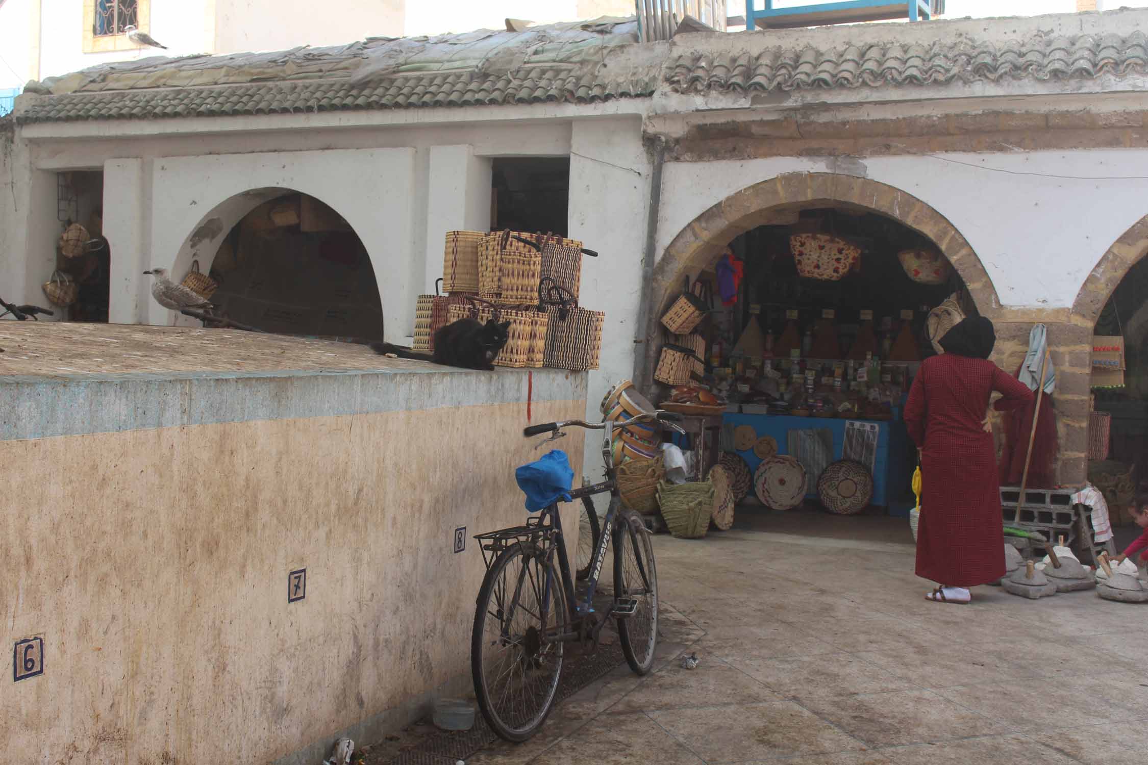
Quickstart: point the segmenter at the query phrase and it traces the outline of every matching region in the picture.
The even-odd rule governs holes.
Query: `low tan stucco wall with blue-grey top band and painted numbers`
[[[0,759],[316,763],[465,689],[470,537],[525,520],[521,428],[585,406],[584,375],[527,377],[0,377],[0,618],[45,646]]]

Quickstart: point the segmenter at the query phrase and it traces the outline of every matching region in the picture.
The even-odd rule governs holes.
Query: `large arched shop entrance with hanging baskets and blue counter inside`
[[[831,244],[820,264],[817,242]],[[732,290],[729,256],[742,271]],[[695,342],[704,342],[718,392],[732,405],[718,451],[736,451],[752,471],[776,444],[805,468],[810,509],[820,507],[825,467],[859,461],[872,482],[864,512],[907,515],[916,452],[900,411],[920,362],[934,353],[928,314],[949,298],[967,315],[992,317],[999,307],[988,275],[952,224],[899,189],[828,173],[782,175],[714,205],[675,237],[656,268],[644,380],[660,388],[656,400],[668,392],[652,380],[662,348],[684,341],[660,319],[685,276],[714,294],[703,341]],[[738,448],[746,427],[766,442],[757,451]]]

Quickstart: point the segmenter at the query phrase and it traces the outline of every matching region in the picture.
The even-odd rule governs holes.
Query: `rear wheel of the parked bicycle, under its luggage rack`
[[[561,579],[530,542],[503,551],[479,591],[471,635],[471,673],[479,709],[506,741],[526,741],[554,703],[567,632]]]

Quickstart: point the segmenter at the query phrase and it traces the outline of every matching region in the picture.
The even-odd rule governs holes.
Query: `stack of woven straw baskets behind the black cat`
[[[576,240],[523,232],[447,232],[443,291],[420,295],[413,350],[464,318],[510,322],[502,367],[597,369],[605,313],[580,307],[582,249]],[[592,255],[592,253],[591,253]]]

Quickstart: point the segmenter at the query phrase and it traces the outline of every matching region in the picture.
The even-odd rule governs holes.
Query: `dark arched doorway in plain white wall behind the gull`
[[[232,321],[280,334],[382,337],[366,248],[313,196],[256,189],[217,205],[185,242],[173,274],[193,268],[218,284],[211,295],[216,313]]]

